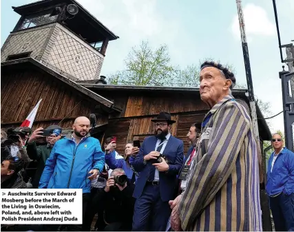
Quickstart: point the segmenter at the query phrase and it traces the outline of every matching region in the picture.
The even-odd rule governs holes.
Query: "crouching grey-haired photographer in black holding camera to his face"
[[[123,169],[114,169],[106,182],[104,221],[107,226],[104,231],[132,231],[135,199],[132,197],[134,184],[130,184]]]

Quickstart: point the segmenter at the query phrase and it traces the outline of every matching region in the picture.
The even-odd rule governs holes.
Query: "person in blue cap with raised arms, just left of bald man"
[[[32,181],[32,187],[34,189],[38,189],[39,181],[45,168],[45,162],[49,158],[54,144],[61,138],[62,128],[57,125],[52,125],[46,128],[46,131],[50,131],[50,136],[46,137],[47,145],[36,146],[36,140],[44,137],[43,128],[41,127],[32,133],[27,143],[28,156],[32,160],[38,161],[36,173]]]

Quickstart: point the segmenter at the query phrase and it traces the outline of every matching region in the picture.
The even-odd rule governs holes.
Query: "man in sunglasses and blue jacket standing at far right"
[[[273,134],[275,151],[268,163],[266,193],[275,222],[275,231],[294,231],[294,153],[280,134]]]

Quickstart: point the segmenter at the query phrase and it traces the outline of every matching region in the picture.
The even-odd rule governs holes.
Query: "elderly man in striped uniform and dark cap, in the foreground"
[[[201,65],[202,122],[187,188],[170,201],[175,231],[262,231],[258,147],[251,118],[231,96],[235,76],[220,63]]]

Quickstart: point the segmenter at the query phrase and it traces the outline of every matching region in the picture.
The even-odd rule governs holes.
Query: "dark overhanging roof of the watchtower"
[[[74,33],[81,35],[87,43],[103,41],[104,39],[112,41],[119,38],[75,0],[42,0],[12,7],[12,9],[21,16],[26,16],[44,10],[53,10],[55,7],[63,7],[68,4],[75,4],[78,7],[78,14],[71,19],[65,19],[64,25]]]

